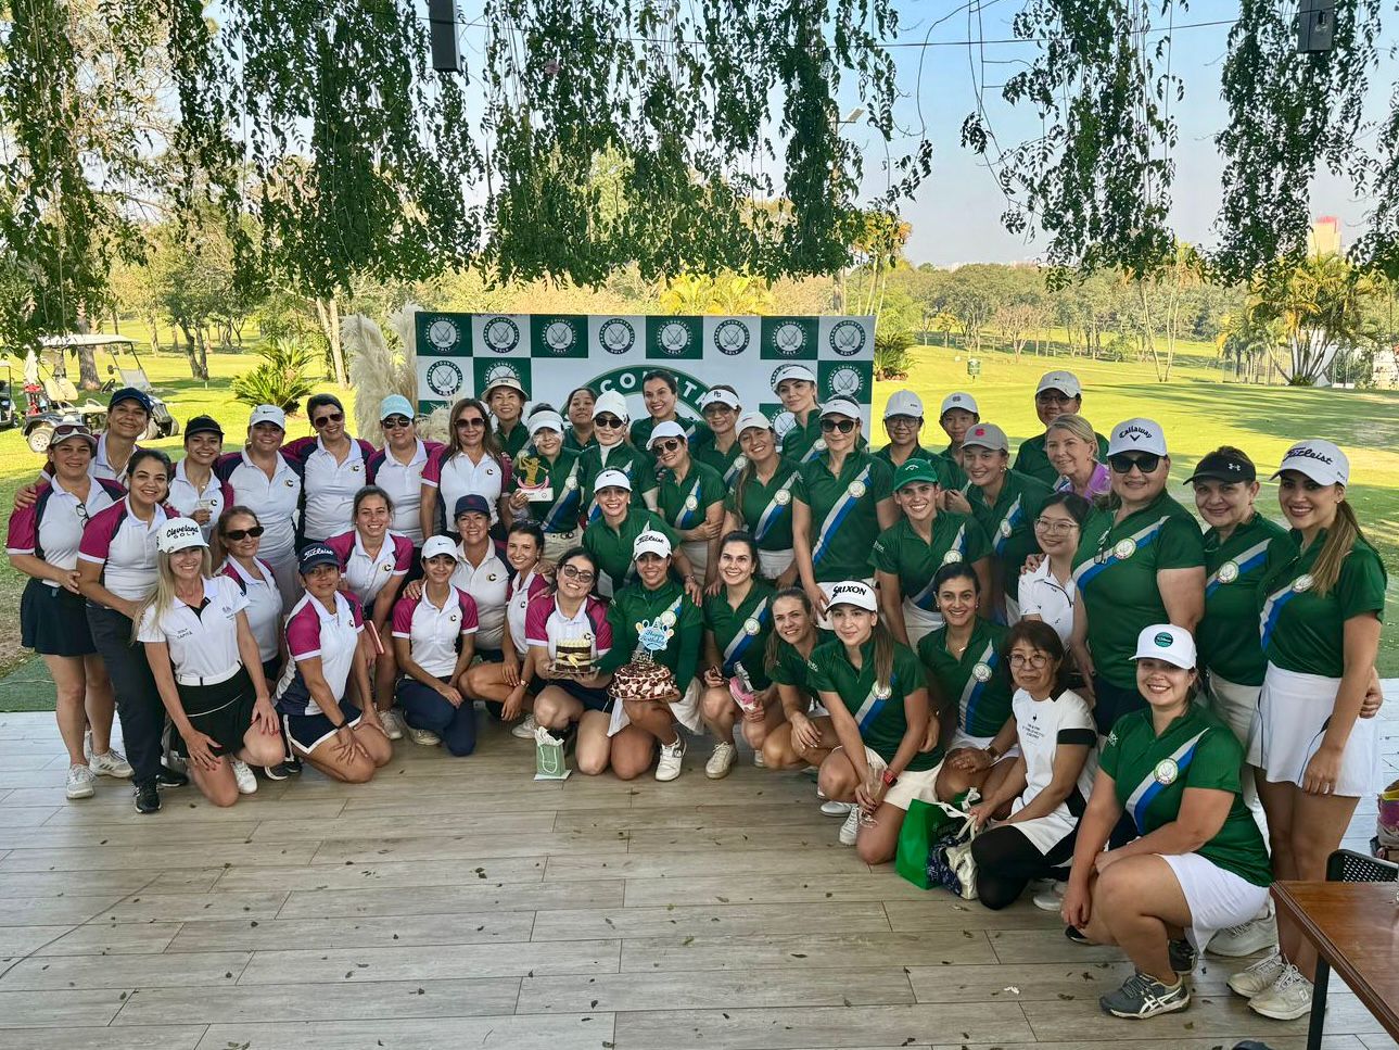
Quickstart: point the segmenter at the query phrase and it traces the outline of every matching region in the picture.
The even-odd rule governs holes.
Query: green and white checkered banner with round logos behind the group
[[[642,377],[665,368],[679,381],[677,412],[700,416],[700,396],[713,384],[739,392],[782,433],[790,426],[772,393],[783,364],[804,364],[818,398],[849,398],[870,426],[874,386],[872,316],[616,316],[610,314],[417,315],[418,407],[431,412],[474,396],[513,375],[532,402],[564,412],[578,386],[618,391],[631,417],[644,419]]]

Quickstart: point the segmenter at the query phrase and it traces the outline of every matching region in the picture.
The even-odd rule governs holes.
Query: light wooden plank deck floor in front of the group
[[[464,760],[404,741],[364,787],[308,771],[141,818],[111,780],[64,801],[53,717],[0,715],[0,1047],[1304,1046],[1305,1021],[1249,1014],[1224,986],[1244,963],[1212,956],[1188,1011],[1108,1018],[1114,949],[1028,900],[992,913],[872,871],[809,778],[711,783],[706,753],[672,784],[536,784],[532,748],[490,728]],[[1332,1002],[1330,1050],[1395,1046]]]

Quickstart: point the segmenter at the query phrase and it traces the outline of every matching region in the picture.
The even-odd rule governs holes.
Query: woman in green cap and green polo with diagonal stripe
[[[981,612],[989,612],[990,540],[970,514],[939,514],[940,493],[933,463],[905,461],[894,472],[894,503],[904,514],[874,540],[874,578],[884,623],[895,641],[915,648],[943,623],[933,585],[942,566],[971,566],[981,582]]]

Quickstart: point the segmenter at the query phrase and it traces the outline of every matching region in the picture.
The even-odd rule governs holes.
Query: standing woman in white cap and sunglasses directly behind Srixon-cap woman
[[[874,582],[874,540],[898,521],[894,472],[856,448],[860,409],[837,398],[821,407],[825,451],[803,463],[792,489],[792,549],[802,588],[824,613],[842,580]]]

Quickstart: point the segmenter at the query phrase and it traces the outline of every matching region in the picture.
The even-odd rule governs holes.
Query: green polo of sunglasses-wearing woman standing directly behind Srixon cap
[[[866,580],[879,538],[880,500],[894,493],[894,472],[869,452],[852,452],[839,475],[823,452],[797,473],[792,496],[811,508],[811,561],[817,582]]]

